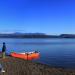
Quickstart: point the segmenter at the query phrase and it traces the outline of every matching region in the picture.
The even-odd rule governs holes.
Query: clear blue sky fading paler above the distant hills
[[[0,0],[0,32],[75,34],[75,0]]]

